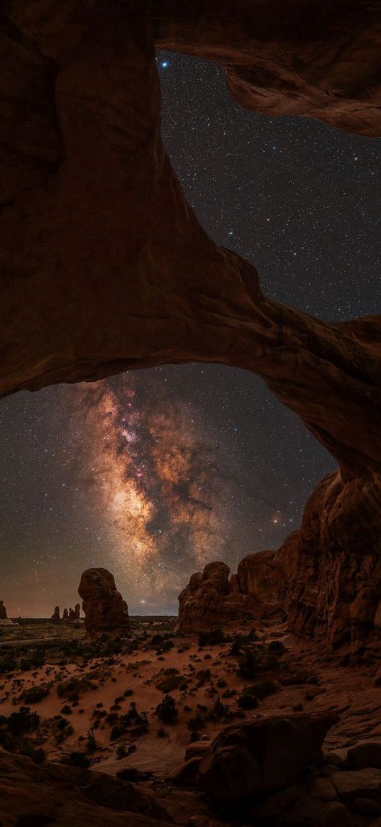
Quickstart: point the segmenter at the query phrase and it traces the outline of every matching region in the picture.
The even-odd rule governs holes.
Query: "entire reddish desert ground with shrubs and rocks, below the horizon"
[[[200,635],[178,633],[176,623],[175,618],[131,618],[129,635],[103,634],[93,642],[85,638],[82,623],[23,621],[2,629],[0,743],[7,752],[1,753],[1,775],[4,783],[8,779],[0,805],[4,827],[69,824],[69,810],[62,815],[63,804],[63,821],[55,811],[63,798],[64,808],[69,807],[61,788],[75,788],[80,797],[82,790],[95,787],[103,791],[98,800],[91,793],[95,815],[86,810],[90,807],[86,793],[80,806],[72,801],[70,824],[76,823],[74,813],[82,806],[86,823],[101,824],[98,810],[109,805],[112,815],[103,822],[107,824],[122,823],[117,810],[136,813],[131,825],[148,825],[148,818],[153,824],[164,818],[183,825],[212,825],[218,820],[235,824],[238,818],[238,823],[255,827],[334,823],[368,827],[381,817],[381,688],[376,657],[348,666],[340,655],[320,655],[315,644],[301,643],[283,626],[259,621],[255,628],[248,622],[229,629],[229,634],[217,629]],[[253,790],[249,795],[241,789],[245,772],[240,772],[235,786],[234,772],[229,771],[229,782],[222,784],[225,792],[216,796],[213,778],[216,772],[218,778],[224,777],[226,767],[218,762],[226,746],[220,745],[217,752],[213,748],[213,753],[210,745],[221,730],[238,728],[241,743],[242,733],[247,732],[245,721],[264,722],[267,733],[270,723],[274,726],[289,716],[300,722],[306,715],[308,720],[311,716],[329,720],[322,765],[311,762],[302,750],[306,763],[302,772],[292,783],[278,774],[265,801],[262,793],[258,797]],[[250,756],[252,740],[250,736]],[[275,738],[277,753],[279,744],[286,747],[282,762],[279,758],[283,766],[288,756],[296,767],[293,745],[298,740],[299,730]],[[320,745],[317,748],[320,752]],[[206,752],[212,758],[206,759]],[[221,753],[218,759],[217,753]],[[239,765],[238,753],[234,766]],[[274,754],[264,758],[264,748],[262,753],[257,758],[266,764],[260,770],[263,791],[268,767],[276,761]],[[210,765],[203,782],[201,758]],[[186,759],[190,762],[184,764]],[[244,767],[250,761],[246,757]],[[105,774],[106,781],[89,781],[90,770]],[[9,773],[14,784],[15,777],[25,776],[30,802],[28,796],[20,799]],[[254,776],[253,770],[250,779]],[[51,812],[45,814],[50,821],[20,820],[28,807],[32,813],[37,807],[39,817],[44,815],[40,796],[33,793],[38,778],[39,787],[55,788],[46,798],[51,799]],[[134,782],[132,791],[127,782]],[[110,792],[111,783],[121,785],[122,794]],[[155,810],[145,799],[131,804],[136,790],[153,794],[155,805],[164,810]],[[115,805],[117,795],[120,806]],[[224,795],[226,801],[219,809]],[[325,812],[331,821],[317,820]]]

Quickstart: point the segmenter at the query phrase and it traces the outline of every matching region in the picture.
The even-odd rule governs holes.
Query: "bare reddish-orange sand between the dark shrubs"
[[[154,630],[155,631],[155,630]],[[248,629],[243,629],[248,631]],[[77,634],[78,632],[76,632]],[[267,646],[273,639],[283,643],[284,653],[279,657],[279,667],[266,676],[274,681],[276,691],[264,698],[257,709],[241,712],[241,716],[284,714],[293,710],[304,709],[307,712],[332,710],[341,715],[337,724],[326,739],[327,748],[346,748],[360,739],[381,740],[381,690],[372,686],[374,667],[349,668],[341,666],[334,658],[319,657],[317,649],[311,643],[300,643],[291,635],[284,634],[282,628],[263,629],[258,632],[258,645]],[[149,638],[150,639],[150,638]],[[17,638],[15,637],[15,640]],[[121,715],[129,710],[131,700],[139,712],[148,715],[148,732],[132,736],[123,735],[115,742],[110,740],[110,724],[102,718],[100,725],[94,729],[97,749],[91,754],[92,763],[104,772],[115,774],[122,767],[139,767],[140,770],[154,772],[156,777],[166,775],[184,759],[185,749],[190,741],[188,720],[197,714],[198,705],[211,707],[217,694],[213,694],[218,681],[226,681],[226,686],[217,689],[219,696],[227,690],[240,693],[244,686],[253,681],[243,680],[237,673],[237,660],[229,654],[231,644],[198,647],[198,637],[174,637],[174,648],[162,655],[156,654],[156,647],[149,643],[142,644],[138,653],[131,656],[117,655],[110,658],[94,658],[84,667],[80,663],[68,663],[60,667],[57,663],[47,664],[40,669],[28,672],[14,672],[12,676],[0,677],[0,714],[10,715],[25,705],[20,696],[31,686],[48,683],[49,695],[38,703],[28,703],[31,710],[36,710],[41,719],[52,719],[55,715],[64,715],[74,728],[73,734],[57,746],[54,739],[48,737],[42,744],[51,760],[60,761],[65,754],[83,751],[86,748],[88,730],[94,724],[94,710],[117,711]],[[181,651],[183,644],[188,646]],[[180,649],[180,651],[178,651]],[[300,682],[283,686],[282,680],[294,671],[302,669],[304,676]],[[170,694],[179,710],[175,724],[162,724],[155,715],[155,708],[163,700],[164,693],[157,688],[161,671],[175,668],[179,670],[188,688],[175,689]],[[210,679],[202,683],[198,672],[210,669]],[[104,670],[102,683],[95,678],[97,688],[90,689],[79,696],[77,705],[57,694],[57,683],[70,676],[98,674]],[[307,678],[306,678],[307,674]],[[262,676],[261,676],[262,677]],[[307,681],[313,682],[307,682]],[[124,697],[126,690],[131,696]],[[117,710],[112,706],[117,698]],[[225,699],[223,703],[237,710],[236,696]],[[62,712],[64,707],[70,708]],[[200,729],[202,739],[212,739],[226,725],[221,722],[207,722]],[[164,737],[159,737],[159,730],[164,729]],[[117,758],[117,744],[126,743],[126,750],[131,754]]]

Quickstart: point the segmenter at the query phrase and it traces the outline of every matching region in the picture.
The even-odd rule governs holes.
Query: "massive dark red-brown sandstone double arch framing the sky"
[[[365,0],[8,0],[0,21],[0,392],[170,361],[258,373],[340,466],[303,523],[294,627],[331,639],[351,605],[355,646],[380,554],[380,319],[285,308],[207,237],[160,139],[154,45],[217,60],[246,107],[379,135],[380,21]]]

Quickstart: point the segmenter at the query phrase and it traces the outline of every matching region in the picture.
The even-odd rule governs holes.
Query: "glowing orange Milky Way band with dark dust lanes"
[[[117,566],[142,603],[175,599],[183,572],[225,549],[223,493],[234,480],[218,445],[157,379],[148,389],[125,375],[78,393],[79,480],[105,514]]]

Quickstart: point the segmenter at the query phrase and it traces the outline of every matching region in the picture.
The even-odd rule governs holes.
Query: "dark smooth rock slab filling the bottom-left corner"
[[[148,793],[102,772],[46,764],[0,748],[3,827],[159,827],[171,818]]]

